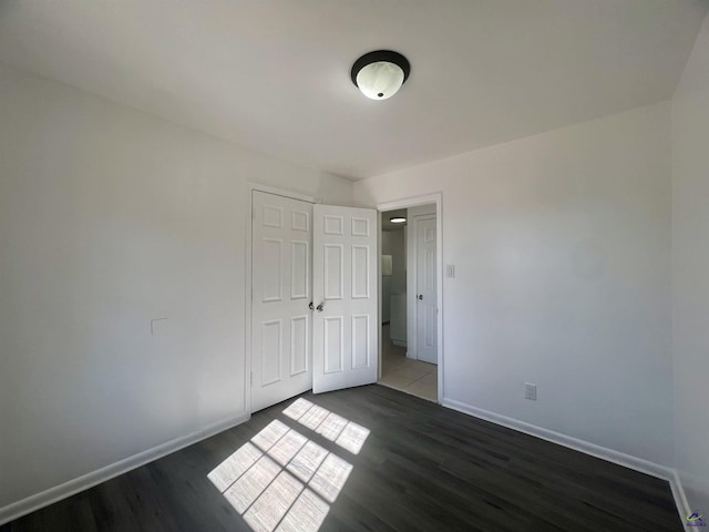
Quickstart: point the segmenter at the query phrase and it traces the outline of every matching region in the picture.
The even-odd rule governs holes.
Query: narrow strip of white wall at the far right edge
[[[709,18],[672,100],[675,462],[709,514]]]

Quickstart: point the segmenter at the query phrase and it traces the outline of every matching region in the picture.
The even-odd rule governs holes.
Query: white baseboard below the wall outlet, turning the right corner
[[[574,449],[575,451],[600,458],[602,460],[606,460],[608,462],[617,463],[618,466],[623,466],[625,468],[649,474],[650,477],[667,480],[669,482],[670,489],[672,490],[672,497],[675,499],[675,504],[677,505],[677,513],[679,513],[679,519],[682,523],[685,523],[685,529],[687,531],[690,530],[686,526],[686,516],[691,513],[689,503],[687,502],[687,497],[685,495],[685,490],[682,488],[679,474],[674,468],[660,466],[659,463],[650,462],[649,460],[633,457],[624,452],[614,451],[613,449],[597,446],[596,443],[590,443],[589,441],[579,440],[578,438],[562,434],[561,432],[555,432],[543,427],[537,427],[525,421],[520,421],[518,419],[490,412],[487,410],[483,410],[482,408],[472,407],[453,399],[444,398],[441,405],[452,410],[467,413],[470,416],[473,416],[474,418],[484,419],[485,421],[501,424],[503,427],[507,427],[508,429],[517,430],[520,432],[524,432],[525,434],[534,436],[536,438],[551,441],[552,443],[557,443],[559,446]]]

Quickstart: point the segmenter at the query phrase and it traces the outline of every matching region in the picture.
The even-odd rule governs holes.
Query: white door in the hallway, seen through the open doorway
[[[417,358],[438,364],[435,216],[417,224]]]

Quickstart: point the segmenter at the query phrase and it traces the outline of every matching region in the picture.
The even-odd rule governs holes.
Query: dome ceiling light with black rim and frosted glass
[[[393,96],[409,78],[409,60],[391,50],[369,52],[354,61],[352,83],[372,100]]]

